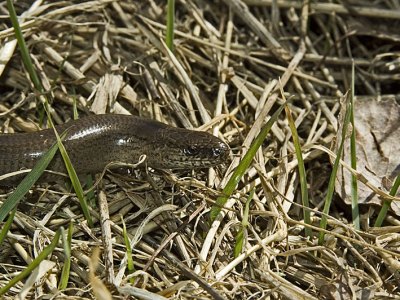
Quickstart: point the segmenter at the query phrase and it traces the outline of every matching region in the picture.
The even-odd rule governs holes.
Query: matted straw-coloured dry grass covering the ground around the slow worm
[[[72,222],[67,288],[57,289],[64,264],[60,244],[48,257],[50,271],[38,276],[28,298],[89,299],[106,295],[105,287],[115,299],[400,297],[396,216],[389,215],[382,229],[370,228],[379,207],[364,206],[362,230],[356,231],[350,207],[337,197],[324,245],[304,238],[297,160],[283,114],[229,199],[224,218],[211,229],[208,219],[257,134],[254,124],[261,126],[266,107],[273,111],[281,102],[281,86],[292,99],[304,149],[317,237],[331,172],[323,150],[337,134],[352,60],[359,99],[398,101],[399,1],[178,1],[174,54],[163,42],[166,1],[48,1],[32,11],[29,2],[15,5],[19,15],[26,12],[21,25],[53,99],[56,123],[71,119],[75,105],[80,116],[132,113],[213,132],[230,144],[232,157],[208,173],[156,172],[152,180],[108,173],[96,189],[94,228],[87,227],[65,185],[37,186],[20,204],[0,246],[0,286],[24,269],[60,226]],[[1,62],[7,63],[0,78],[2,129],[34,130],[40,104],[18,49],[5,47],[13,30],[4,2],[0,8]],[[235,258],[235,237],[253,188],[244,249]],[[125,267],[122,220],[133,241],[132,274]],[[95,271],[89,257],[96,247]],[[14,297],[24,284],[5,297]]]

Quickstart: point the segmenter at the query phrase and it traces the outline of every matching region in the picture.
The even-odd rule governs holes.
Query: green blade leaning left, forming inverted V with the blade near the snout
[[[311,225],[310,209],[309,209],[310,204],[308,201],[307,175],[306,175],[306,168],[304,166],[304,159],[303,159],[303,154],[301,151],[299,135],[297,134],[296,125],[294,123],[292,113],[290,112],[290,109],[288,106],[285,107],[285,112],[286,112],[287,119],[289,121],[289,127],[290,127],[290,131],[292,133],[293,144],[294,144],[294,148],[295,148],[295,152],[296,152],[297,166],[299,168],[299,180],[300,180],[300,189],[301,189],[301,202],[303,204],[304,223]],[[305,226],[304,228],[305,228],[304,229],[305,236],[309,237],[311,239],[311,237],[312,237],[311,228],[308,226]]]

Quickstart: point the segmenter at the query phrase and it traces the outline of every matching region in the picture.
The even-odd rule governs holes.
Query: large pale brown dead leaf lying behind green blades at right
[[[357,171],[374,186],[388,191],[400,172],[400,106],[395,99],[356,101],[354,106]],[[350,165],[349,140],[343,160]],[[335,188],[342,199],[351,204],[351,175],[343,167],[338,172]],[[358,182],[358,197],[360,204],[382,203],[361,182]],[[400,203],[393,201],[391,208],[400,215]]]

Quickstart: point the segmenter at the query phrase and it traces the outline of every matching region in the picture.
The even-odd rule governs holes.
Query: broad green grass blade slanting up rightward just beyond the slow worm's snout
[[[285,107],[285,103],[282,104],[276,112],[271,116],[271,118],[268,120],[268,122],[261,128],[260,133],[258,136],[254,139],[253,144],[250,146],[249,150],[246,152],[246,154],[243,156],[242,161],[239,163],[235,171],[233,171],[232,176],[229,178],[228,183],[222,190],[222,195],[217,198],[217,201],[213,205],[210,211],[210,219],[211,221],[214,221],[215,218],[218,216],[218,214],[221,211],[221,208],[225,205],[225,203],[228,201],[228,198],[232,195],[233,191],[235,190],[237,184],[243,177],[244,173],[246,172],[247,168],[250,166],[253,157],[256,155],[258,148],[262,145],[264,142],[265,138],[267,137],[269,131],[272,128],[272,125],[276,122],[278,119],[278,116],[282,112],[283,108]]]

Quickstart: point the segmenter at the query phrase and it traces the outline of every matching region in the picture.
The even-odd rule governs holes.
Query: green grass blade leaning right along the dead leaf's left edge
[[[342,153],[343,153],[343,148],[344,148],[344,142],[346,139],[346,132],[347,132],[347,128],[349,126],[350,123],[350,115],[351,115],[351,102],[348,103],[347,107],[346,107],[346,114],[344,117],[344,124],[343,124],[343,128],[342,128],[342,133],[341,133],[341,140],[340,140],[340,145],[339,145],[339,149],[336,153],[336,159],[335,162],[333,164],[333,168],[332,168],[332,173],[331,173],[331,177],[329,178],[329,184],[328,184],[328,191],[325,197],[325,204],[324,204],[324,209],[323,209],[323,215],[321,217],[321,222],[319,227],[322,229],[326,229],[326,225],[328,223],[328,215],[329,215],[329,209],[331,207],[331,203],[332,203],[332,197],[333,197],[333,193],[335,191],[335,180],[336,180],[336,174],[337,171],[339,169],[339,162],[340,162],[340,158],[342,157]],[[318,244],[322,245],[324,242],[324,237],[325,237],[325,233],[324,232],[320,232],[319,233],[319,237],[318,237]]]

